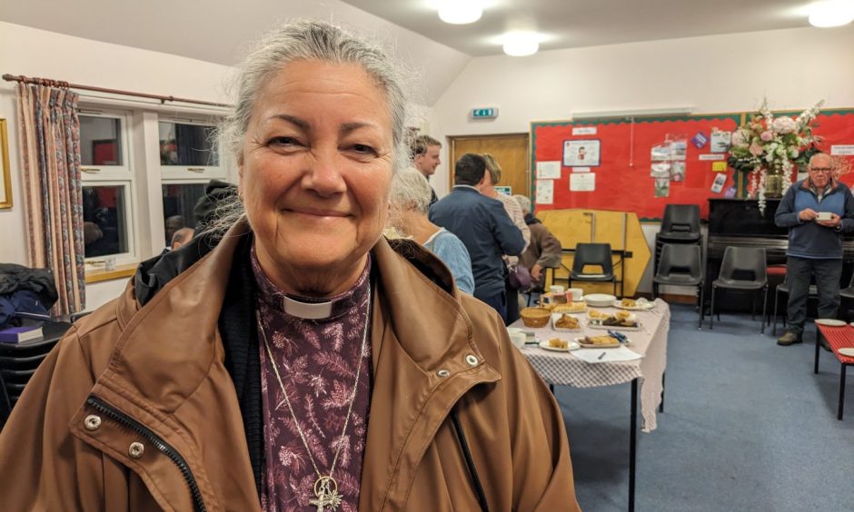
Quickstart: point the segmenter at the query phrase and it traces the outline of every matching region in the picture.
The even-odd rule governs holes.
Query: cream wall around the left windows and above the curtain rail
[[[76,84],[171,94],[212,102],[225,101],[224,84],[231,71],[230,67],[220,64],[98,43],[3,22],[0,22],[0,48],[2,73],[42,76]],[[14,241],[0,243],[0,261],[26,265],[29,261],[25,243],[25,204],[21,193],[15,109],[15,84],[0,82],[0,118],[5,118],[9,127],[14,201],[11,210],[0,210],[0,232],[4,240]],[[156,179],[159,180],[159,166],[148,172],[156,172]],[[124,281],[88,285],[87,309],[112,299],[121,290],[124,290]]]

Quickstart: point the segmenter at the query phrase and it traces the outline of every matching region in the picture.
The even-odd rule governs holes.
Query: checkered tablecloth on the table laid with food
[[[613,312],[615,308],[594,308]],[[656,427],[655,413],[661,403],[661,377],[667,367],[667,334],[670,330],[670,307],[663,300],[655,301],[655,308],[647,311],[633,311],[640,320],[641,330],[624,331],[629,337],[629,348],[638,352],[643,359],[622,362],[589,363],[576,358],[571,352],[554,352],[540,347],[527,345],[521,353],[531,362],[546,382],[575,388],[595,388],[631,382],[640,378],[640,417],[641,430],[651,432]],[[586,324],[584,315],[581,324]],[[604,334],[603,330],[584,328],[581,332],[557,332],[550,326],[540,329],[525,327],[517,320],[511,327],[533,331],[538,339],[565,338],[573,340],[580,336]],[[589,349],[581,349],[589,350]],[[597,349],[601,350],[601,349]]]

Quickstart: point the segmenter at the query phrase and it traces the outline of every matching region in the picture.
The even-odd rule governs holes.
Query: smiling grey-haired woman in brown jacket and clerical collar
[[[144,262],[45,359],[0,435],[5,509],[578,509],[501,319],[381,236],[406,162],[389,63],[310,22],[249,56],[230,227]]]

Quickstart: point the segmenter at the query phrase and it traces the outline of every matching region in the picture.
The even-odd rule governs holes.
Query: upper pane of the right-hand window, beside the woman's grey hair
[[[215,123],[165,120],[158,123],[164,179],[223,178]]]

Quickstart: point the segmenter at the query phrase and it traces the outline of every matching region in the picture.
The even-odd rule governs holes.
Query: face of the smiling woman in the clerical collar
[[[385,224],[392,146],[385,94],[361,66],[297,61],[264,84],[240,190],[279,287],[323,296],[352,286]]]

